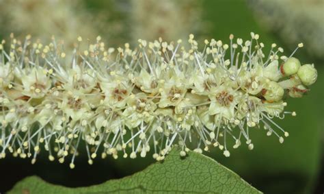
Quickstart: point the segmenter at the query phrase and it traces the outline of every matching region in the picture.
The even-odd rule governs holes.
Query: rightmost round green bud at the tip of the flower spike
[[[314,64],[303,64],[297,72],[301,82],[310,86],[316,82],[317,79],[317,70],[314,68]]]

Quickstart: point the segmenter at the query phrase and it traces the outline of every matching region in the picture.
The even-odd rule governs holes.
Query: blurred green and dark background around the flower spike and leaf
[[[24,5],[27,8],[27,14],[38,9],[38,5],[33,5],[32,3],[37,4],[41,2],[36,0],[29,1],[31,5]],[[288,2],[288,0],[285,1]],[[298,0],[295,1],[295,4],[297,4],[297,7],[303,6],[303,3],[306,1]],[[313,1],[308,2],[315,3],[316,7],[323,8],[322,10],[324,10],[323,1]],[[30,20],[31,24],[23,28],[18,26],[19,14],[14,18],[12,13],[8,13],[23,12],[16,8],[19,5],[17,3],[11,5],[12,3],[8,3],[8,1],[0,1],[0,4],[2,4],[2,8],[0,8],[0,39],[8,38],[10,32],[15,32],[17,36],[31,33],[41,38],[48,38],[52,34],[62,38],[72,36],[76,38],[80,33],[84,34],[83,36],[92,36],[91,38],[94,38],[96,37],[94,33],[98,33],[107,40],[109,46],[118,46],[123,45],[125,42],[135,43],[136,34],[141,35],[141,37],[137,38],[145,38],[145,36],[151,37],[152,34],[154,35],[153,32],[157,32],[155,34],[157,36],[166,36],[167,38],[174,38],[174,36],[186,38],[187,34],[194,32],[197,34],[198,39],[215,38],[217,40],[224,40],[224,42],[228,40],[230,34],[234,34],[235,37],[240,37],[244,40],[249,39],[249,32],[256,32],[260,34],[260,41],[265,43],[266,47],[269,48],[271,43],[277,43],[277,45],[284,48],[286,55],[290,55],[296,47],[292,44],[293,40],[287,41],[280,31],[285,26],[295,25],[294,23],[286,22],[285,25],[279,26],[279,29],[275,28],[278,26],[273,26],[273,23],[285,23],[284,17],[275,17],[276,14],[281,12],[290,13],[288,15],[294,19],[294,13],[292,13],[292,10],[289,10],[292,9],[291,6],[288,6],[286,10],[280,6],[282,10],[278,11],[275,10],[275,7],[269,8],[267,4],[263,5],[262,1],[243,0],[176,1],[176,3],[170,3],[170,5],[165,6],[159,5],[159,3],[163,4],[164,1],[154,1],[156,5],[152,5],[152,1],[149,0],[141,1],[140,3],[143,5],[137,5],[134,1],[112,0],[71,2],[76,3],[78,7],[75,7],[73,4],[68,5],[67,1],[62,1],[60,7],[53,7],[53,12],[57,12],[57,14],[68,13],[68,16],[74,17],[72,18],[73,23],[68,21],[69,18],[58,17],[59,23],[57,25],[41,25],[42,19],[27,18],[27,21]],[[167,1],[165,2],[167,3]],[[79,6],[80,4],[82,5]],[[275,1],[273,1],[273,4],[275,4]],[[5,9],[7,11],[3,11],[3,5],[6,5]],[[9,5],[12,6],[12,10]],[[158,7],[162,6],[163,10],[154,8],[157,5]],[[140,6],[144,6],[144,8],[140,8]],[[180,10],[177,10],[175,6],[180,7]],[[262,8],[262,6],[265,7]],[[41,9],[44,8],[41,7]],[[67,10],[66,12],[60,12],[59,9]],[[42,10],[40,16],[49,17],[49,21],[51,21],[51,17],[55,17],[53,13],[48,13],[51,11]],[[144,15],[137,16],[137,14]],[[262,14],[267,14],[268,18],[263,17]],[[271,14],[273,20],[279,18],[278,20],[283,21],[272,21],[273,23],[269,23]],[[312,14],[312,10],[308,14]],[[157,16],[164,18],[154,21],[154,17]],[[298,14],[296,14],[297,16]],[[149,19],[152,21],[146,21]],[[172,21],[167,23],[167,20],[170,19],[179,20],[181,25],[176,26]],[[63,20],[62,23],[60,20]],[[301,39],[306,37],[305,40],[297,40],[300,42],[307,40],[308,42],[304,42],[306,49],[299,49],[296,56],[299,57],[302,63],[314,63],[319,72],[319,77],[317,82],[311,86],[310,92],[303,98],[288,99],[286,109],[296,111],[297,117],[286,117],[284,120],[276,121],[290,134],[285,139],[284,144],[280,144],[278,138],[268,137],[265,132],[255,130],[251,132],[254,141],[253,151],[249,151],[243,146],[232,150],[230,158],[225,158],[221,151],[217,149],[212,149],[207,153],[208,156],[215,158],[222,165],[241,175],[243,179],[256,187],[256,189],[265,193],[323,193],[324,191],[322,185],[324,182],[324,56],[321,55],[321,51],[314,51],[312,50],[312,45],[308,45],[308,43],[323,43],[324,35],[321,32],[321,29],[324,27],[323,13],[310,17],[309,22],[312,20],[317,20],[316,22],[319,25],[317,27],[305,25],[301,27],[303,29],[300,29],[300,32],[298,27],[291,27],[293,30],[289,31],[291,34],[288,33],[289,37],[286,37],[297,36],[297,38]],[[11,25],[12,21],[16,25]],[[45,20],[44,22],[49,21]],[[161,22],[165,23],[157,25]],[[44,27],[44,30],[37,29],[38,25]],[[53,29],[57,29],[57,26],[60,25],[63,25],[60,28],[62,30],[53,32]],[[69,25],[73,25],[73,28],[70,28]],[[155,25],[158,28],[156,31],[154,31]],[[48,29],[49,31],[45,30],[46,27],[50,28]],[[312,29],[307,29],[307,27],[312,27]],[[27,30],[32,32],[26,32]],[[66,31],[68,30],[71,30],[71,32],[67,36]],[[317,38],[312,35],[314,30],[318,30],[318,34],[321,34],[319,39],[313,40]],[[305,33],[307,32],[312,32],[308,35],[310,37],[306,36],[307,34]],[[308,47],[311,49],[307,49]],[[323,45],[317,48],[324,50]],[[58,162],[49,162],[47,156],[41,156],[35,165],[31,165],[29,160],[19,158],[8,157],[5,160],[0,160],[0,193],[8,191],[18,180],[27,175],[39,175],[48,182],[65,186],[88,186],[113,178],[131,175],[154,162],[150,157],[136,158],[135,160],[129,158],[118,160],[107,158],[105,160],[96,159],[94,165],[90,166],[87,164],[87,158],[82,158],[85,154],[80,155],[75,163],[76,169],[73,170],[70,170],[68,163],[61,165]]]

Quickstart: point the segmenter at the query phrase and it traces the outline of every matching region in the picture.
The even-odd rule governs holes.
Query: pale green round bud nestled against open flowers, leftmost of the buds
[[[262,90],[262,95],[267,101],[280,101],[284,96],[284,88],[277,82],[269,82],[267,87]]]

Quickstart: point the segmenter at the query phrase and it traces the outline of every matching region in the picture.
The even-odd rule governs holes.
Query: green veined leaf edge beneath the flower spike
[[[73,189],[31,176],[9,193],[260,193],[215,160],[193,151],[180,158],[179,151],[174,148],[163,162],[120,180]]]

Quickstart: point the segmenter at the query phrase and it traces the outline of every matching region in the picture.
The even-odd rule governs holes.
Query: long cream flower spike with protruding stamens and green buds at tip
[[[0,148],[21,158],[41,149],[49,160],[64,162],[85,145],[88,162],[100,153],[118,158],[163,160],[173,145],[180,156],[189,149],[219,147],[230,156],[245,141],[254,145],[249,128],[262,128],[283,143],[284,131],[272,119],[284,118],[284,96],[301,97],[316,81],[313,64],[278,56],[271,45],[265,55],[258,34],[251,40],[205,40],[198,47],[189,36],[189,49],[177,42],[138,40],[131,49],[106,48],[100,36],[66,54],[64,45],[33,43],[27,36],[0,45]],[[87,44],[87,43],[85,43]],[[280,65],[281,64],[281,65]],[[234,141],[233,141],[234,140]]]

